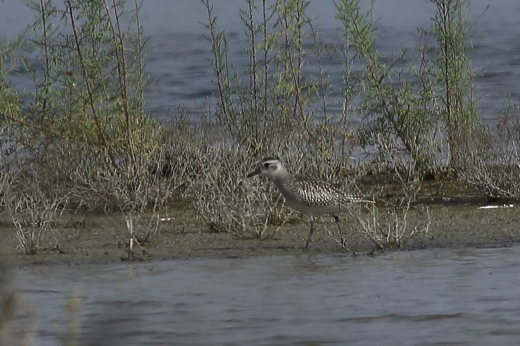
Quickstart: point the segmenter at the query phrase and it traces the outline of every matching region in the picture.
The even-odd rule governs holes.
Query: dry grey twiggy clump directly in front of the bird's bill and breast
[[[246,239],[272,237],[291,220],[283,199],[270,184],[245,176],[256,161],[239,149],[212,147],[206,170],[193,182],[193,206],[213,232]]]

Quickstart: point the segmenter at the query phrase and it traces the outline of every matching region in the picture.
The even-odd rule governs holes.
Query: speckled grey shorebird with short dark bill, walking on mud
[[[258,162],[256,170],[249,173],[247,177],[258,174],[266,176],[275,183],[292,209],[309,216],[310,230],[305,248],[309,246],[310,239],[313,237],[314,217],[324,214],[330,214],[334,218],[337,229],[340,231],[341,246],[346,247],[340,217],[337,214],[346,211],[347,206],[352,203],[373,203],[373,201],[363,199],[360,195],[346,193],[332,184],[292,175],[276,158],[264,158]]]

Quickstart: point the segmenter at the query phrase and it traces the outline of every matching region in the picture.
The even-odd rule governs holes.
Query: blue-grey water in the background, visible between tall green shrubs
[[[238,11],[245,8],[243,0],[218,0],[213,2],[220,27],[226,29],[230,41],[230,56],[239,72],[243,72],[248,57],[243,50],[244,27]],[[362,0],[368,8],[370,1]],[[473,0],[471,12],[479,14],[490,4],[482,18],[476,23],[473,42],[479,43],[471,56],[475,68],[485,67],[477,78],[483,94],[482,117],[496,119],[508,102],[511,93],[514,102],[520,102],[520,25],[517,0]],[[415,47],[419,41],[417,27],[428,27],[435,10],[432,4],[418,0],[375,1],[374,19],[379,20],[379,50],[398,54],[403,47]],[[335,36],[340,22],[335,17],[332,0],[311,1],[309,15],[318,17],[315,26],[323,40],[339,42]],[[20,0],[0,2],[0,35],[14,37],[31,22],[34,14]],[[148,90],[148,107],[160,118],[175,113],[179,106],[196,110],[216,91],[210,81],[212,71],[206,58],[210,56],[210,45],[204,26],[207,13],[197,0],[145,0],[141,9],[141,23],[150,36],[153,51],[146,59],[146,72],[153,87]],[[483,40],[480,41],[480,38]],[[323,60],[323,71],[335,85],[341,85],[342,62],[340,57]],[[245,76],[244,76],[245,78]],[[31,86],[27,76],[15,76],[20,88]],[[332,94],[331,110],[339,110]]]

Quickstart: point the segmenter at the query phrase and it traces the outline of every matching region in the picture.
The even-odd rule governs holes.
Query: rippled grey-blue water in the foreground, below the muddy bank
[[[520,247],[31,267],[18,273],[56,344],[79,292],[83,344],[518,345]]]

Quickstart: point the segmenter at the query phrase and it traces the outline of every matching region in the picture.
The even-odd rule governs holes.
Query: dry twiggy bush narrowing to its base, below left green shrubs
[[[159,213],[187,185],[192,162],[175,156],[174,149],[165,144],[116,168],[107,162],[85,182],[105,200],[106,212],[123,214],[128,235],[138,245],[157,236]]]

